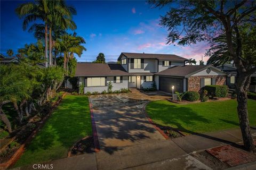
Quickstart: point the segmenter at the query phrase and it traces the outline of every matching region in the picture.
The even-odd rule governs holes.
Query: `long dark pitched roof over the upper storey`
[[[121,59],[122,55],[127,58],[147,58],[147,59],[158,59],[158,60],[172,60],[172,61],[187,61],[187,58],[180,57],[174,54],[146,54],[146,53],[121,53],[118,60]]]

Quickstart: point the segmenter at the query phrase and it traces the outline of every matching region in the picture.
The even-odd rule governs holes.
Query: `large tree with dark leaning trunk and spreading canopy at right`
[[[174,1],[151,1],[158,7],[173,5]],[[219,35],[225,35],[227,50],[237,67],[238,80],[237,113],[241,127],[244,147],[255,152],[247,112],[247,90],[252,73],[256,71],[255,49],[252,56],[243,56],[244,25],[255,28],[255,1],[178,1],[179,8],[170,7],[170,11],[161,17],[161,25],[167,27],[167,43],[178,41],[178,45],[194,44],[198,41],[211,41]],[[181,29],[180,29],[181,26]],[[255,43],[255,40],[254,40]]]

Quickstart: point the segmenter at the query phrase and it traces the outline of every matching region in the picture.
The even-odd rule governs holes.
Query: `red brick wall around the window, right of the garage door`
[[[216,85],[223,85],[226,83],[226,76],[223,75],[191,76],[188,78],[188,91],[199,91],[201,78],[215,78]]]

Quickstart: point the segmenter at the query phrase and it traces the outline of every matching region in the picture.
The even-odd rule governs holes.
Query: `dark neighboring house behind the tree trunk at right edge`
[[[230,89],[235,89],[235,84],[237,81],[236,66],[233,64],[224,64],[224,65],[218,66],[218,69],[222,70],[227,74],[227,81],[226,81],[227,86]],[[256,92],[256,73],[252,74],[249,91]]]

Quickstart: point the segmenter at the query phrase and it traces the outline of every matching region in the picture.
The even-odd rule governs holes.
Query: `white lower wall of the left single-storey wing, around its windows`
[[[84,81],[84,77],[81,78],[81,81]],[[123,76],[123,82],[122,83],[114,83],[114,77],[107,77],[107,83],[110,82],[113,85],[112,90],[120,90],[120,89],[127,89],[128,88],[128,77],[127,76]],[[79,82],[80,82],[80,78],[79,78]],[[84,88],[84,93],[90,91],[90,92],[94,92],[94,91],[98,91],[98,92],[102,92],[104,90],[108,90],[108,86],[100,86],[100,87],[85,87]]]

